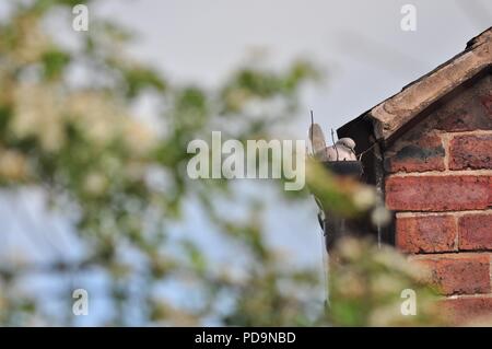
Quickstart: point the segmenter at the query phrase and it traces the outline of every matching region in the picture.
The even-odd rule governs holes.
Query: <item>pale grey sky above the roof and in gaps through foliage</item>
[[[414,32],[400,27],[407,3],[417,9]],[[0,19],[1,11],[0,3]],[[179,82],[216,85],[253,56],[274,68],[311,59],[326,72],[326,81],[302,93],[303,108],[286,128],[297,139],[306,139],[309,109],[325,132],[336,129],[455,56],[492,25],[488,0],[104,0],[90,11],[133,28],[138,39],[132,54]],[[279,203],[274,190],[262,184],[245,186],[247,191],[267,190],[261,193],[270,241],[290,252],[292,260],[323,272],[314,201]],[[63,219],[47,213],[42,199],[33,200],[32,194],[24,199],[40,230],[52,230],[52,224],[63,229]],[[22,195],[4,197],[1,214],[11,214],[5,213],[11,202],[22,200]],[[206,219],[192,203],[188,213],[188,222],[176,231],[200,230]],[[0,226],[13,233],[28,230],[16,224],[2,220]],[[16,237],[17,243],[25,239],[32,236]],[[220,246],[214,239],[203,239],[203,244]],[[70,239],[63,244],[74,246]],[[102,303],[99,313],[104,311]]]

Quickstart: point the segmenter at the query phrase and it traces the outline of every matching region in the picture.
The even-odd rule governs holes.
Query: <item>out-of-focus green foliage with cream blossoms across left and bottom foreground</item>
[[[69,27],[71,7],[94,2],[16,2],[0,24],[0,185],[4,190],[43,188],[50,208],[70,217],[86,251],[70,264],[2,261],[0,324],[70,324],[70,292],[63,295],[67,323],[63,316],[40,313],[36,294],[16,292],[17,279],[32,269],[77,274],[91,268],[103,270],[110,282],[113,315],[106,325],[134,324],[136,316],[138,324],[164,325],[207,319],[270,326],[317,319],[398,324],[385,314],[376,316],[379,291],[372,288],[407,287],[407,270],[395,269],[389,260],[399,256],[385,252],[382,258],[389,259],[376,260],[379,255],[368,246],[355,247],[355,255],[342,253],[340,258],[352,260],[352,267],[333,270],[327,318],[316,289],[318,272],[292,268],[271,248],[261,205],[242,200],[243,219],[222,214],[218,202],[239,201],[233,182],[192,181],[186,173],[190,140],[208,139],[212,130],[239,140],[267,138],[272,127],[295,114],[300,88],[318,79],[318,71],[297,61],[282,71],[239,68],[216,89],[173,83],[128,55],[131,33],[93,12],[89,32],[67,30],[74,45],[61,44],[49,31],[54,14]],[[145,96],[156,101],[151,124],[133,115]],[[327,207],[341,214],[375,205],[372,189],[338,182],[316,166],[308,182]],[[209,229],[220,232],[225,245],[238,248],[241,263],[211,260],[206,248],[185,234],[171,239],[173,224],[187,219],[187,201],[200,206]],[[189,302],[161,295],[159,290],[172,282],[192,290]],[[385,298],[386,289],[382,292]],[[383,303],[394,301],[391,295]]]

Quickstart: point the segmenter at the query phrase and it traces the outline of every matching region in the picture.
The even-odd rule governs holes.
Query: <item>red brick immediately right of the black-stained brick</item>
[[[492,168],[492,135],[455,137],[449,147],[449,168]]]

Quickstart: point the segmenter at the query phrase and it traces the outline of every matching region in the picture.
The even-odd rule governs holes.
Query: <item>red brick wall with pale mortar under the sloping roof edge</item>
[[[456,319],[492,315],[492,83],[488,74],[385,153],[396,244],[429,266]]]

